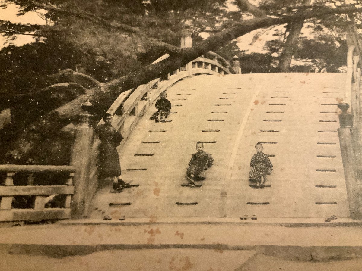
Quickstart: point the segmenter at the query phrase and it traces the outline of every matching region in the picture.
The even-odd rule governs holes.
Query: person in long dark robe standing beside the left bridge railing
[[[113,189],[116,192],[122,192],[123,186],[128,185],[122,180],[121,165],[117,146],[121,143],[123,137],[112,126],[112,115],[106,113],[103,117],[104,124],[97,126],[96,133],[101,141],[98,155],[98,177],[112,178]]]

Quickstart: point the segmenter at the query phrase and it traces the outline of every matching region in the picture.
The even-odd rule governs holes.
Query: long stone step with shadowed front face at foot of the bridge
[[[253,250],[290,261],[338,261],[362,256],[361,226],[356,222],[338,222],[348,227],[338,223],[325,223],[328,227],[318,223],[298,227],[298,224],[281,226],[276,222],[261,222],[237,223],[235,218],[223,223],[128,221],[123,225],[112,222],[97,225],[88,221],[79,225],[56,223],[3,228],[0,253],[65,257],[102,250],[173,248]],[[313,225],[311,222],[309,225]]]

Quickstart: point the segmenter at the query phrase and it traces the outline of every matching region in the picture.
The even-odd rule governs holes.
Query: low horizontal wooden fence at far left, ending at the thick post
[[[6,176],[0,186],[0,221],[41,221],[71,217],[71,198],[74,193],[72,166],[0,165]],[[34,185],[35,176],[45,173],[64,173],[64,185]],[[14,185],[17,175],[26,177],[26,185]],[[58,206],[46,206],[47,197],[58,195]],[[23,208],[13,208],[14,199],[26,199]]]

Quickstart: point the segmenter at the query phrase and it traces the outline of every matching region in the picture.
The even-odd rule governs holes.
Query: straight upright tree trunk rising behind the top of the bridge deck
[[[311,0],[304,0],[303,5],[310,5]],[[302,31],[304,25],[304,18],[295,20],[289,23],[289,35],[283,44],[282,53],[279,56],[279,72],[289,72],[290,62],[294,55],[295,46],[297,46],[300,31]]]

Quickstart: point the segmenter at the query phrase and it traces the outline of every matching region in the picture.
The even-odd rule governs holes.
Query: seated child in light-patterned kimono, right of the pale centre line
[[[273,165],[268,156],[263,153],[263,145],[258,142],[255,145],[256,154],[250,161],[250,177],[249,181],[256,183],[258,188],[264,188],[265,175],[270,175]]]

